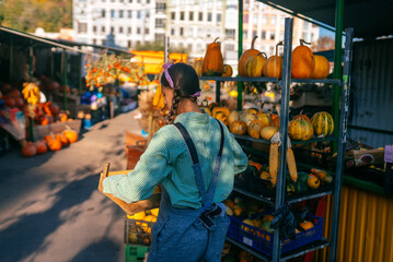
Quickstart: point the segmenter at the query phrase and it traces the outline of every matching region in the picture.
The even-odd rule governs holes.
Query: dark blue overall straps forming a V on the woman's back
[[[194,144],[188,131],[184,128],[184,126],[180,122],[174,123],[174,126],[181,132],[181,134],[184,139],[184,142],[186,143],[188,153],[193,160],[194,175],[195,175],[197,187],[199,189],[203,204],[205,207],[209,206],[212,203],[212,199],[213,199],[215,190],[216,190],[216,183],[217,183],[217,179],[218,179],[218,174],[220,171],[221,156],[222,156],[222,150],[223,150],[223,144],[224,144],[224,133],[223,133],[222,126],[219,120],[217,120],[217,122],[221,130],[221,142],[220,142],[219,154],[218,154],[218,157],[216,160],[213,175],[212,175],[211,182],[210,182],[210,186],[208,189],[208,193],[206,193],[206,190],[205,190],[204,178],[201,176],[200,163],[199,163],[199,158],[198,158],[198,154],[197,154],[195,144]]]

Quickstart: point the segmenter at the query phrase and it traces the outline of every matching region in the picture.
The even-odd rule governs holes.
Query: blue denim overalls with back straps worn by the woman
[[[221,143],[211,182],[206,192],[195,145],[181,123],[175,123],[193,159],[193,170],[203,199],[203,207],[177,209],[162,187],[160,212],[152,228],[152,243],[148,262],[219,262],[229,227],[226,206],[212,203],[221,164],[224,134],[221,124]],[[212,224],[211,224],[212,222]]]

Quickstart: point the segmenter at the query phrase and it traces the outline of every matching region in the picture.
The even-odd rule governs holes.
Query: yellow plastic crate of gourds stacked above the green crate
[[[154,222],[125,219],[124,242],[126,245],[149,247],[151,245],[151,229],[154,224]]]

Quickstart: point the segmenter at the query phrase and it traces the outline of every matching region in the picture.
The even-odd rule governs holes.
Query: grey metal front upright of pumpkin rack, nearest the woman
[[[291,58],[292,58],[292,27],[293,19],[286,19],[285,38],[284,38],[284,61],[282,61],[282,80],[281,80],[281,111],[280,127],[288,127],[289,121],[289,99],[291,82]],[[280,129],[281,145],[279,147],[280,157],[277,175],[276,202],[275,210],[284,205],[286,196],[286,159],[288,144],[288,129]],[[275,230],[273,241],[273,261],[280,261],[280,229]]]

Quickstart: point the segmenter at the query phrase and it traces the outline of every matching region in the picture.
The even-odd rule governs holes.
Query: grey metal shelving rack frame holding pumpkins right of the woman
[[[331,255],[330,260],[335,261],[336,258],[336,246],[337,246],[337,234],[338,234],[338,218],[339,218],[339,201],[342,193],[342,184],[343,184],[343,160],[344,160],[344,145],[346,143],[346,134],[347,134],[347,118],[348,118],[348,105],[349,105],[349,84],[350,84],[350,61],[351,61],[351,49],[352,49],[352,35],[354,29],[346,29],[346,43],[345,43],[345,57],[344,57],[344,71],[343,71],[343,81],[338,79],[326,79],[326,80],[291,80],[291,48],[292,48],[292,27],[293,27],[293,19],[286,19],[285,21],[285,41],[284,41],[284,63],[282,63],[282,79],[271,79],[271,78],[220,78],[220,76],[203,76],[200,80],[210,80],[216,81],[216,102],[220,102],[220,86],[221,82],[224,81],[236,81],[239,82],[271,82],[277,83],[281,86],[281,111],[280,111],[280,127],[288,127],[289,123],[289,100],[290,100],[290,84],[291,83],[324,83],[324,84],[335,84],[342,87],[342,96],[340,96],[340,108],[339,110],[339,127],[338,127],[338,136],[325,138],[325,139],[314,139],[311,142],[317,141],[335,141],[337,143],[337,164],[335,171],[335,182],[333,188],[327,188],[323,191],[314,191],[307,195],[300,196],[289,196],[287,198],[286,193],[286,150],[288,144],[288,129],[280,129],[281,136],[281,145],[279,147],[280,158],[279,158],[279,168],[278,168],[278,179],[276,187],[276,195],[275,198],[265,198],[263,195],[258,195],[255,193],[247,192],[245,190],[234,188],[234,191],[242,193],[244,195],[257,199],[262,202],[268,203],[275,207],[275,210],[279,210],[282,205],[287,203],[296,203],[304,200],[310,200],[314,198],[320,198],[327,194],[334,195],[333,201],[333,218],[332,218],[332,235],[331,240],[328,241],[325,238],[321,240],[314,241],[307,246],[300,247],[296,250],[286,252],[284,254],[280,253],[280,240],[279,240],[279,230],[275,230],[274,233],[274,246],[273,246],[273,255],[267,257],[261,252],[257,252],[251,249],[248,246],[234,241],[233,239],[227,238],[230,242],[239,246],[240,248],[253,253],[255,257],[265,260],[265,261],[284,261],[291,258],[296,258],[302,255],[307,252],[311,252],[317,249],[322,249],[325,247],[331,247]],[[241,90],[240,90],[241,91]],[[239,103],[239,100],[238,100]],[[238,106],[239,108],[239,106]],[[336,127],[337,128],[337,127]],[[250,136],[235,135],[238,140],[247,140],[252,142],[261,142],[268,144],[268,141],[265,140],[256,140]],[[309,141],[310,142],[310,141]],[[293,142],[292,142],[293,143]],[[294,142],[298,143],[298,142]],[[300,143],[300,142],[299,142]],[[307,143],[302,141],[301,143]],[[282,164],[284,163],[284,164]]]

